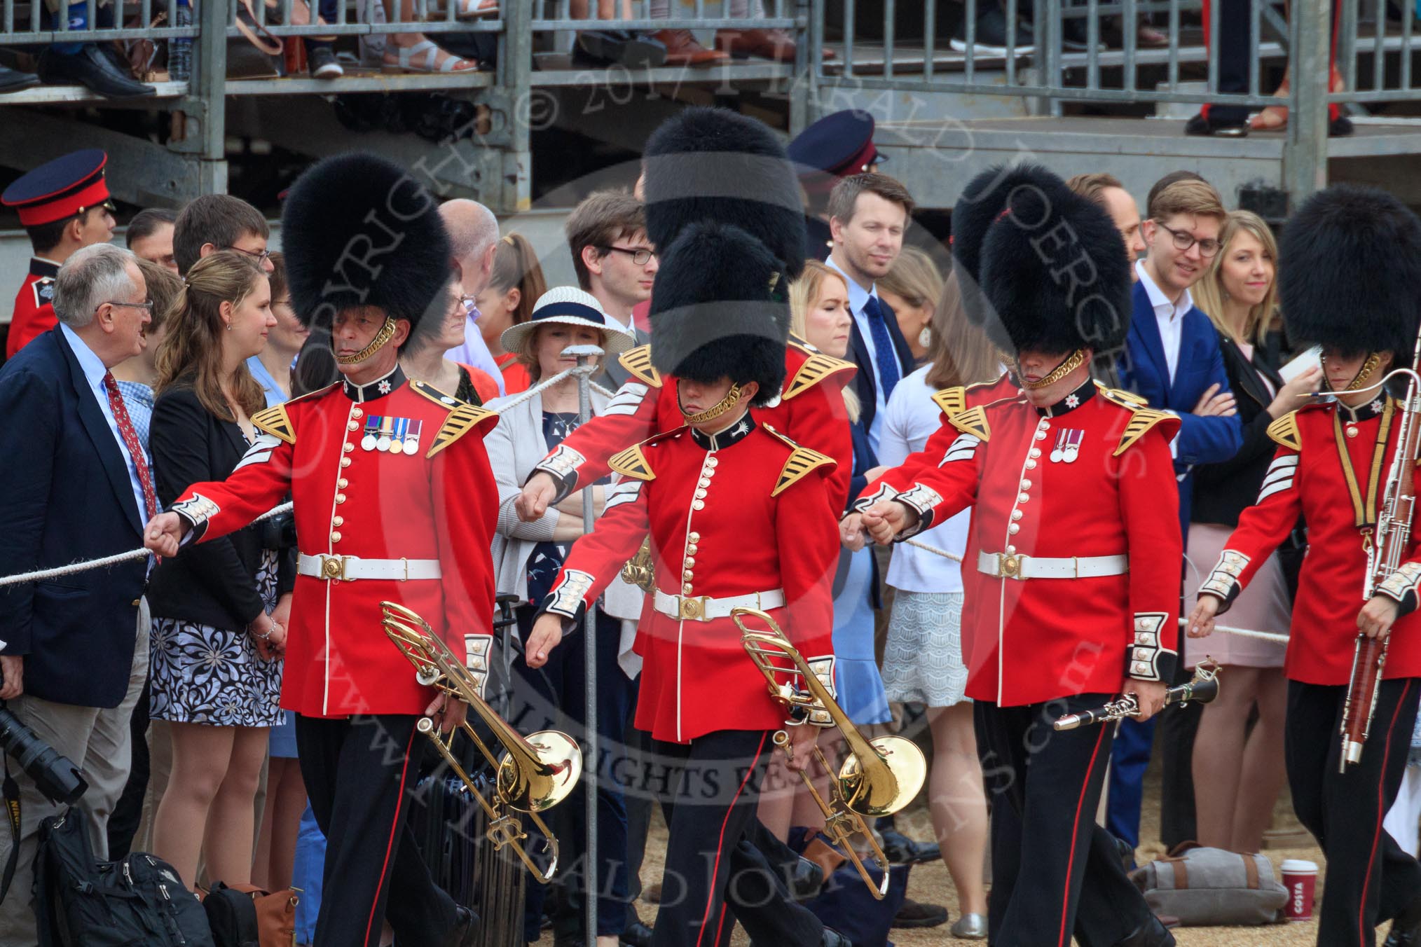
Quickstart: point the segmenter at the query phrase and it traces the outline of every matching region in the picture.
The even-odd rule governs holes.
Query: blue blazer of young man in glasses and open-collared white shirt
[[[1135,283],[1134,318],[1130,321],[1125,351],[1120,356],[1120,383],[1150,402],[1151,407],[1179,416],[1175,473],[1181,474],[1179,524],[1188,532],[1194,466],[1223,463],[1243,443],[1243,425],[1236,415],[1199,417],[1191,413],[1211,385],[1218,385],[1219,393],[1232,390],[1214,322],[1199,307],[1184,314],[1179,361],[1171,383],[1169,363],[1165,362],[1160,322],[1150,305],[1150,294],[1142,283]]]

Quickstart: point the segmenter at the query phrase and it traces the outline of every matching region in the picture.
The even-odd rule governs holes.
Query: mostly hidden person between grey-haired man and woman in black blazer
[[[138,270],[144,274],[148,285],[148,298],[152,300],[152,317],[144,327],[144,351],[115,365],[111,371],[118,381],[118,393],[128,407],[128,417],[134,422],[138,433],[138,443],[144,449],[149,469],[152,469],[153,454],[149,450],[148,432],[153,416],[153,386],[158,383],[158,346],[162,345],[168,332],[168,314],[172,311],[178,294],[182,292],[182,280],[172,270],[156,263],[149,263],[138,257]],[[129,726],[129,737],[134,745],[132,768],[128,782],[124,785],[124,795],[119,797],[114,814],[108,819],[108,856],[118,860],[128,855],[139,829],[148,823],[151,828],[152,809],[148,799],[149,777],[149,745],[148,745],[148,686],[134,706],[134,717]],[[168,733],[163,731],[163,740]],[[171,751],[168,752],[171,757]],[[165,757],[166,758],[166,757]],[[168,764],[163,765],[166,779]],[[152,848],[144,841],[139,849]]]

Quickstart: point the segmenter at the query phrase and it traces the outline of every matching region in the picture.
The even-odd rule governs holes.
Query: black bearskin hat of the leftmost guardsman
[[[433,196],[384,158],[327,158],[291,186],[281,212],[291,305],[307,328],[372,305],[438,331],[450,250]],[[429,318],[426,318],[426,314]]]

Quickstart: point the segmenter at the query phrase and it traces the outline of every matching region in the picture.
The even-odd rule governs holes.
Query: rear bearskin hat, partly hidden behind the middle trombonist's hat
[[[693,106],[647,142],[647,236],[665,251],[689,224],[718,221],[759,239],[790,278],[804,268],[804,209],[784,145],[759,119]]]

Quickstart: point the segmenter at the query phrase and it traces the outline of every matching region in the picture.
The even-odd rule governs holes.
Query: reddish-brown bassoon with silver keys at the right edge
[[[1421,362],[1421,335],[1417,336],[1411,365]],[[1407,396],[1401,405],[1401,423],[1397,430],[1397,451],[1387,471],[1387,490],[1381,513],[1377,515],[1376,537],[1367,551],[1367,581],[1363,601],[1373,596],[1376,588],[1385,582],[1405,555],[1411,541],[1411,517],[1415,511],[1415,463],[1421,443],[1421,389],[1415,372],[1408,372]],[[1361,762],[1361,750],[1371,733],[1371,718],[1377,711],[1377,691],[1381,687],[1381,673],[1387,666],[1387,642],[1366,635],[1357,635],[1357,649],[1351,660],[1351,680],[1347,683],[1347,701],[1341,711],[1341,758],[1339,771]]]

